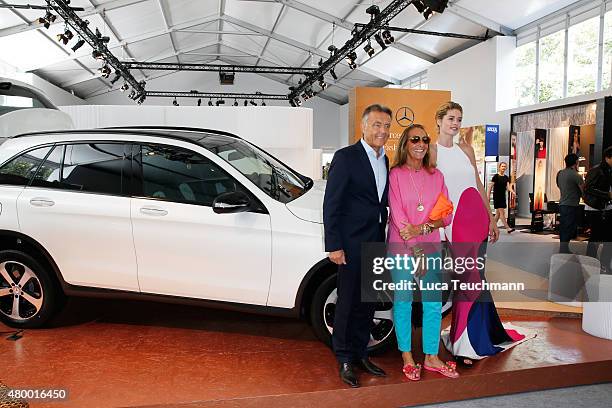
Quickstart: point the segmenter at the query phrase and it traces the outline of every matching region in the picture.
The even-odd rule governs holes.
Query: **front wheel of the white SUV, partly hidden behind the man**
[[[326,278],[314,292],[310,305],[310,323],[314,334],[323,343],[331,347],[333,319],[337,299],[336,274]],[[386,350],[395,343],[392,304],[380,302],[376,305],[374,327],[371,332],[368,353],[376,354]]]

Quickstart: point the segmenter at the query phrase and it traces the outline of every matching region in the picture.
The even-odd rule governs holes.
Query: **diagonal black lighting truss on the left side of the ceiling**
[[[57,15],[59,15],[67,25],[69,25],[75,33],[77,33],[81,39],[85,40],[87,44],[93,48],[93,52],[98,56],[98,59],[106,61],[115,72],[121,74],[125,82],[130,84],[134,91],[134,99],[139,99],[145,95],[144,82],[138,82],[130,73],[121,61],[109,51],[104,38],[99,38],[88,26],[88,22],[82,20],[72,9],[68,6],[68,2],[65,0],[46,0],[47,4]]]

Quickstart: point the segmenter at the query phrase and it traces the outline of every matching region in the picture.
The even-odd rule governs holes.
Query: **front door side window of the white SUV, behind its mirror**
[[[145,197],[212,206],[219,194],[244,191],[210,159],[187,149],[143,145],[140,160]]]

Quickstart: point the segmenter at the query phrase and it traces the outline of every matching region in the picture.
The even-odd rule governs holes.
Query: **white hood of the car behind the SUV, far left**
[[[0,116],[0,138],[66,129],[74,129],[72,119],[67,113],[55,109],[20,109]]]

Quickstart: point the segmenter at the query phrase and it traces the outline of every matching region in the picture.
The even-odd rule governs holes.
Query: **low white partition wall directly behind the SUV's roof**
[[[234,133],[300,173],[321,178],[313,149],[312,109],[280,106],[63,106],[77,129],[111,126],[184,126]]]

